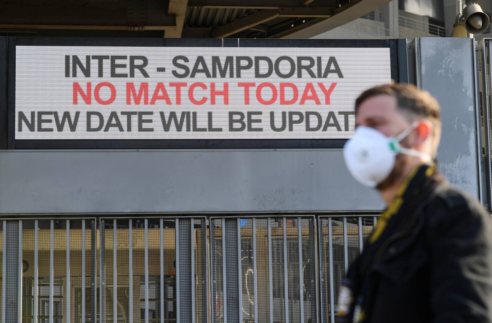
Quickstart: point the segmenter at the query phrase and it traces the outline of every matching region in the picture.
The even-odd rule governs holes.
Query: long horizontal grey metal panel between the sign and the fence
[[[7,150],[0,177],[3,214],[383,208],[341,149]]]

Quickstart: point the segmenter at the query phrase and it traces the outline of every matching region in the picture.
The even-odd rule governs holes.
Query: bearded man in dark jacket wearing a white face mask
[[[433,162],[439,105],[392,84],[363,92],[344,147],[350,173],[387,205],[338,300],[339,323],[491,323],[491,218]]]

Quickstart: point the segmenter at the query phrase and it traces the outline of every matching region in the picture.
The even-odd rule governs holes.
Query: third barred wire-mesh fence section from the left
[[[212,218],[212,319],[317,322],[313,218]]]

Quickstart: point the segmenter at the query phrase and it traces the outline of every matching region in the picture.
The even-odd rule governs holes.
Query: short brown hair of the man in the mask
[[[439,103],[428,91],[410,84],[393,83],[369,88],[355,100],[355,115],[365,100],[376,95],[391,95],[397,99],[397,109],[408,120],[428,120],[432,124],[432,157],[435,157],[441,138],[441,119]]]

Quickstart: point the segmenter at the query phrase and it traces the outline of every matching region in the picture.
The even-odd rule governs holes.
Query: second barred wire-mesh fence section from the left
[[[101,322],[206,322],[205,218],[100,220]]]

